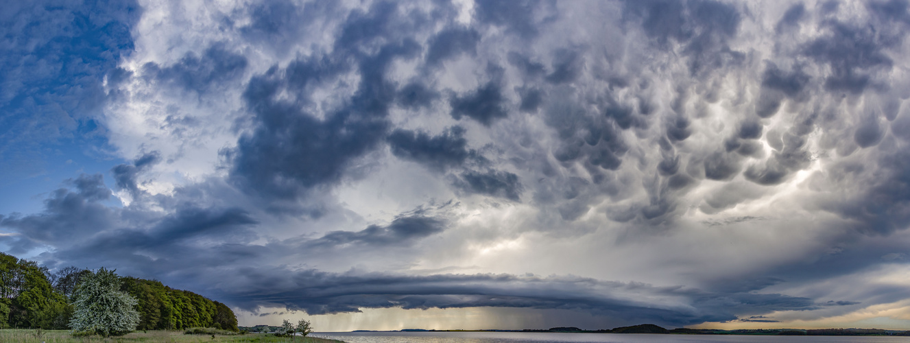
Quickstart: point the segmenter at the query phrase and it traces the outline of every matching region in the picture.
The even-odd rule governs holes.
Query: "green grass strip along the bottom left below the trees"
[[[185,335],[183,331],[148,331],[133,332],[125,336],[101,338],[86,337],[74,338],[69,330],[32,330],[20,328],[0,329],[0,342],[35,342],[35,343],[62,343],[62,342],[290,342],[290,338],[275,337],[270,334],[247,334],[220,336],[212,338],[211,335]],[[340,340],[323,338],[294,338],[298,343],[343,343]]]

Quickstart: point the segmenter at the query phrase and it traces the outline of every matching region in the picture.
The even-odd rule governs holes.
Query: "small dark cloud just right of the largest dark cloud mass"
[[[388,140],[393,155],[444,171],[461,166],[469,159],[483,158],[476,150],[468,148],[464,132],[461,126],[452,126],[439,136],[430,136],[399,128],[389,134]]]

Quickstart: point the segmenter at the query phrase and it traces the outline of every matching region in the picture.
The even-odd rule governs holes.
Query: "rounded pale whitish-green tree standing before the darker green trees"
[[[76,288],[76,307],[70,326],[76,332],[94,332],[101,336],[126,335],[136,329],[139,313],[136,299],[120,290],[116,270],[104,267],[86,274]]]

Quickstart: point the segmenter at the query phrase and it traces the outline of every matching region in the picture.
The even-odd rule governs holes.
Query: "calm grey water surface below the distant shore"
[[[648,334],[558,334],[522,332],[314,332],[313,336],[340,339],[348,343],[662,343],[662,342],[910,342],[908,337],[860,336],[713,336]]]

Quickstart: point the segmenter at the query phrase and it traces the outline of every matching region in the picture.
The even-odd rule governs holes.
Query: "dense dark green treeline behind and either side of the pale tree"
[[[68,329],[80,279],[92,271],[50,272],[34,261],[0,253],[0,328]],[[136,298],[136,329],[221,328],[238,331],[234,311],[196,293],[161,282],[120,277],[120,290]]]

